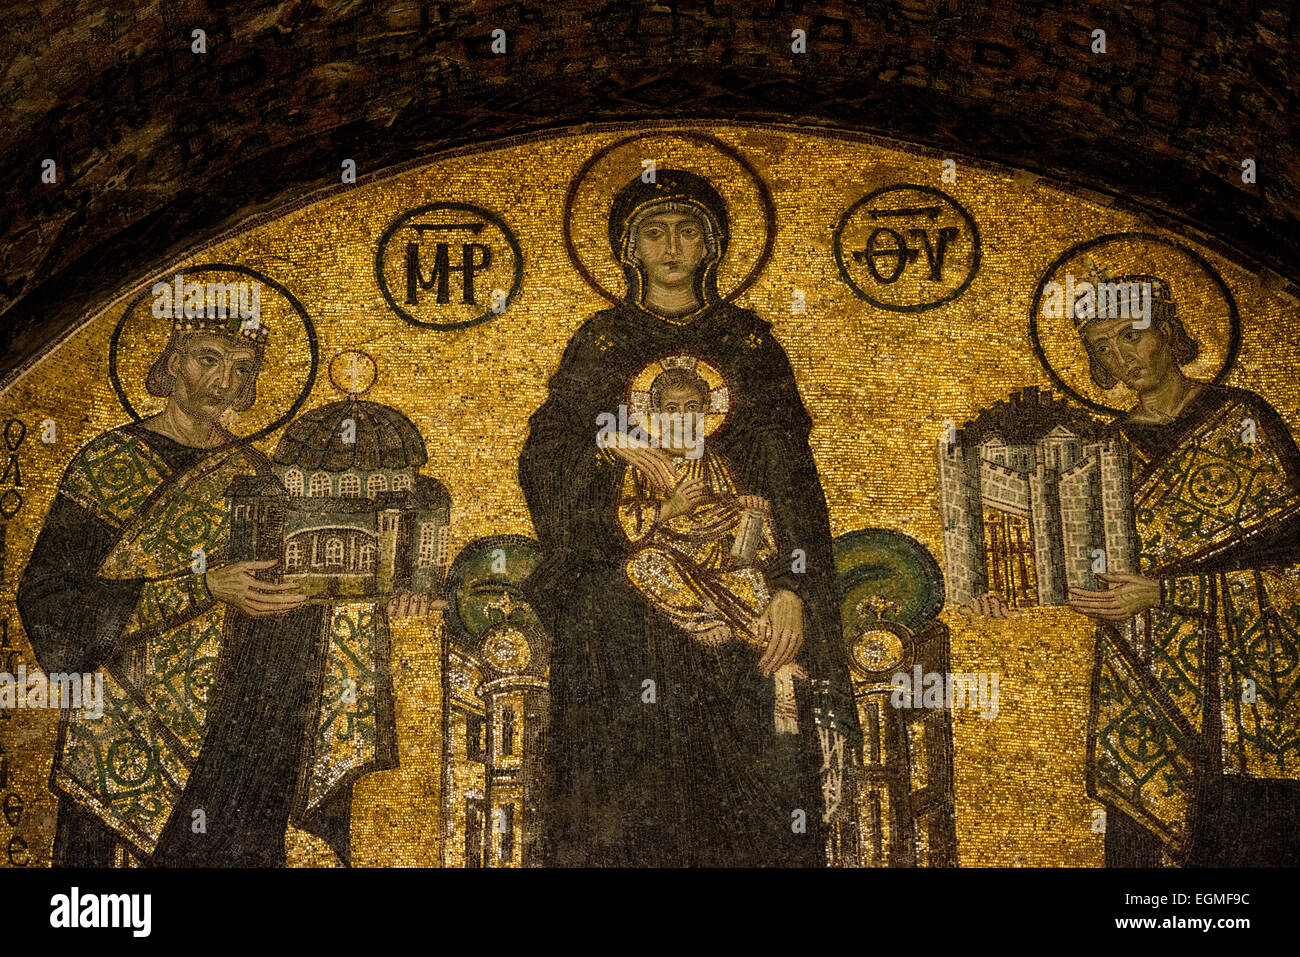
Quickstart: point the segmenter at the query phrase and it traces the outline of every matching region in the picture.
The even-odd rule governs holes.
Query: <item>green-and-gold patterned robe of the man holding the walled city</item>
[[[1245,840],[1262,805],[1232,794],[1268,781],[1300,794],[1300,452],[1243,389],[1209,386],[1169,425],[1119,428],[1140,572],[1162,601],[1098,628],[1088,789],[1173,861],[1235,859],[1210,845],[1232,828]],[[1274,830],[1294,831],[1296,811]]]

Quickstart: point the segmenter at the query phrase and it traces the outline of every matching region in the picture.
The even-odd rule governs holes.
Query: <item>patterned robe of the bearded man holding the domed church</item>
[[[382,614],[254,619],[196,571],[230,560],[240,475],[269,465],[139,424],[64,473],[18,611],[47,672],[103,672],[104,707],[61,716],[56,866],[277,866],[290,820],[347,861],[352,781],[395,766]]]

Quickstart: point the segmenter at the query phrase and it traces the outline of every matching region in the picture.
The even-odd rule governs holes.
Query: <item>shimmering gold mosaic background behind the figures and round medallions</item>
[[[940,156],[879,142],[777,127],[711,125],[706,131],[744,153],[775,196],[772,259],[738,303],[774,322],[789,354],[815,421],[812,451],[832,532],[868,525],[900,529],[941,560],[935,439],[942,421],[961,423],[1023,386],[1050,385],[1028,345],[1027,312],[1035,286],[1061,252],[1102,233],[1158,230],[1134,213],[961,157],[957,181],[942,183]],[[332,192],[186,260],[157,264],[147,283],[124,290],[10,382],[0,394],[0,420],[17,416],[29,426],[21,452],[25,505],[8,527],[0,596],[22,650],[16,663],[30,666],[31,657],[13,593],[58,477],[90,438],[126,421],[108,381],[113,325],[140,289],[191,263],[247,265],[289,287],[306,306],[322,359],[307,408],[338,398],[324,374],[330,356],[364,348],[377,358],[378,380],[365,398],[400,410],[425,436],[430,456],[425,472],[446,482],[452,497],[452,554],[478,536],[532,534],[516,484],[528,416],[542,402],[569,335],[607,304],[566,256],[566,189],[597,150],[630,133],[601,129],[514,142]],[[719,186],[728,202],[748,204],[732,209],[732,261],[720,270],[725,291],[728,280],[734,283],[748,272],[760,247],[760,235],[754,235],[762,229],[753,205],[757,192],[733,161],[671,137],[642,140],[593,169],[590,191],[580,194],[575,217],[575,238],[589,268],[602,281],[618,276],[610,269],[602,217],[615,185],[641,172],[642,156],[660,166],[684,165],[723,178]],[[844,283],[832,256],[832,231],[844,211],[866,192],[893,183],[944,190],[966,207],[982,233],[983,263],[970,287],[927,312],[870,306]],[[389,308],[374,282],[374,250],[384,229],[413,207],[442,200],[498,213],[515,231],[525,259],[523,287],[508,311],[458,332],[410,325]],[[1297,304],[1266,291],[1254,273],[1201,252],[1240,308],[1242,352],[1227,382],[1261,393],[1292,429],[1300,429],[1294,373],[1300,358]],[[1154,270],[1186,274],[1180,256],[1169,254],[1176,263],[1164,263],[1162,254],[1153,255]],[[806,293],[806,315],[792,313],[794,287]],[[1209,296],[1192,299],[1180,303],[1190,328],[1195,330],[1200,320],[1206,330],[1222,326],[1219,304]],[[1205,313],[1200,320],[1197,309]],[[266,321],[283,328],[285,320],[268,313]],[[1071,363],[1074,381],[1082,381],[1082,355],[1070,350],[1062,355]],[[133,378],[143,380],[152,358],[124,359],[129,389]],[[1200,367],[1192,373],[1208,374]],[[259,408],[277,393],[295,393],[300,380],[291,378],[286,373],[286,381],[265,387]],[[268,386],[270,380],[263,374]],[[1109,399],[1128,404],[1122,395]],[[270,417],[259,419],[256,408],[248,415],[252,425]],[[39,441],[38,424],[46,417],[57,423],[53,445]],[[264,439],[261,447],[269,452],[276,438]],[[1091,625],[1066,609],[974,624],[945,609],[942,618],[953,629],[954,671],[1001,675],[997,719],[984,720],[974,711],[954,715],[961,863],[1100,865],[1101,835],[1091,831],[1097,805],[1084,793]],[[437,629],[433,619],[407,619],[394,622],[393,631],[402,767],[369,775],[358,785],[354,859],[363,866],[438,865],[443,853]],[[17,832],[38,865],[48,863],[53,840],[56,802],[47,783],[56,722],[56,713],[31,711],[0,722],[0,744],[10,758],[9,789],[26,805]],[[0,828],[8,844],[14,828],[8,823]],[[291,861],[329,858],[315,839],[291,835]]]

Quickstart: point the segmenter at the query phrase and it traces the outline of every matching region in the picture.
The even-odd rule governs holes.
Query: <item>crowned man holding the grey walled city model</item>
[[[1138,567],[1071,588],[1096,622],[1088,793],[1109,866],[1300,863],[1300,451],[1269,402],[1204,382],[1173,285],[1148,321],[1074,319],[1088,374],[1135,406],[1128,446]],[[976,611],[1008,614],[982,597]]]

